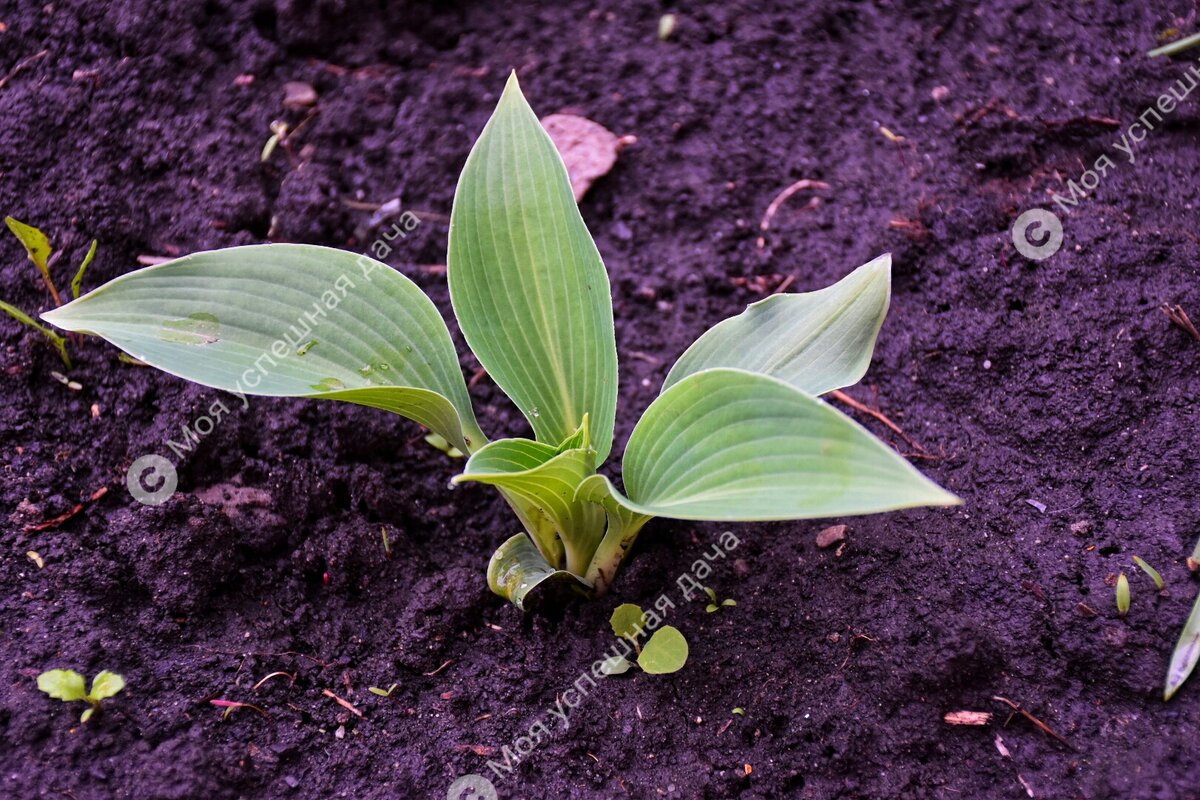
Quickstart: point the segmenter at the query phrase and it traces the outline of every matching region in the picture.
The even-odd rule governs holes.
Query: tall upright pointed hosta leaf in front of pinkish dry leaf
[[[617,408],[608,276],[515,73],[458,179],[446,258],[463,336],[538,440],[558,444],[587,414],[602,463]]]

